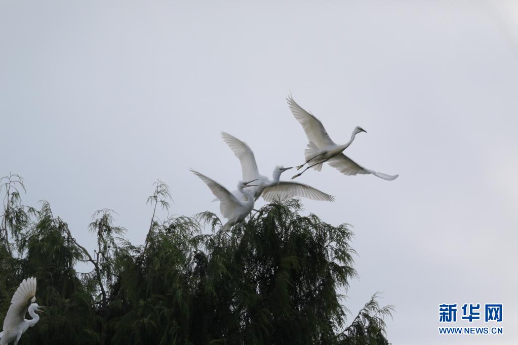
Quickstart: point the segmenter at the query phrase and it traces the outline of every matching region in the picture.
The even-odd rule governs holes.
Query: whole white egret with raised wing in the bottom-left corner
[[[12,295],[11,305],[7,310],[4,320],[4,331],[0,332],[0,345],[7,345],[11,341],[18,344],[20,338],[29,327],[34,326],[39,321],[39,315],[36,301],[36,278],[31,277],[23,279],[20,286]],[[25,314],[29,312],[31,320],[25,319]]]

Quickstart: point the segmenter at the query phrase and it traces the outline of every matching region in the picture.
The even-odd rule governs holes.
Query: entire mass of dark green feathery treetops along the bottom
[[[37,278],[48,306],[20,344],[388,344],[393,307],[375,294],[351,321],[339,293],[357,275],[348,224],[303,216],[296,199],[227,233],[210,212],[161,221],[156,206],[168,209],[170,194],[159,180],[146,243],[127,241],[116,214],[101,209],[90,251],[48,202],[22,206],[21,177],[2,182],[0,322],[23,278]],[[78,262],[91,272],[77,272]]]

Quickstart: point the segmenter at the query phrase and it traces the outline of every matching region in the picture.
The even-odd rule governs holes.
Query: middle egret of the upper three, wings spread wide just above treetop
[[[275,167],[272,179],[261,175],[257,169],[254,153],[246,142],[225,132],[221,132],[221,137],[241,162],[243,179],[245,181],[249,181],[251,179],[255,179],[257,181],[255,183],[257,187],[250,189],[250,192],[254,194],[255,200],[259,199],[259,197],[263,197],[265,201],[271,202],[276,198],[285,199],[304,197],[312,200],[335,201],[333,196],[303,183],[280,181],[281,174],[293,167]],[[235,197],[240,198],[239,191],[233,191],[232,193]]]

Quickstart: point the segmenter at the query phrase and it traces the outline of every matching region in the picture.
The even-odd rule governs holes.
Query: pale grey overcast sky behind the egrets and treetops
[[[383,291],[394,344],[511,343],[517,44],[511,1],[2,1],[0,175],[22,175],[25,203],[48,200],[92,249],[87,226],[104,207],[142,243],[157,178],[171,214],[219,213],[188,168],[235,189],[220,131],[246,141],[264,175],[303,162],[292,92],[335,142],[368,131],[351,158],[400,174],[326,165],[299,177],[336,197],[303,200],[306,213],[354,226],[347,306]],[[503,303],[505,334],[439,336],[438,304],[450,302]]]

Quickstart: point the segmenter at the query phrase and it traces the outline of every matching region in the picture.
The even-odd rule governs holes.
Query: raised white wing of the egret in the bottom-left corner
[[[4,331],[16,327],[23,322],[27,308],[36,301],[36,278],[23,279],[12,295],[11,305],[4,320]]]

